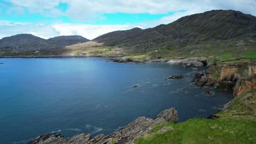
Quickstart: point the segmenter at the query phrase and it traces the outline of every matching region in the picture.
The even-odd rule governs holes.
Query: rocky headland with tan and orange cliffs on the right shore
[[[240,88],[236,86],[236,91],[242,93],[242,89],[245,90],[247,87],[251,88],[255,85],[255,81],[243,81],[254,74],[256,74],[256,63],[252,62],[212,65],[205,73],[196,74],[193,81],[196,82],[197,87],[215,88],[233,88],[241,83]],[[241,92],[238,89],[241,89]],[[237,92],[234,92],[235,96],[237,96]]]

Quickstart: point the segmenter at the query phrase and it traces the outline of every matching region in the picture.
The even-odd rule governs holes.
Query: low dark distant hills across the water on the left
[[[17,34],[0,40],[0,50],[8,51],[36,51],[42,49],[54,49],[68,45],[90,41],[78,35],[60,36],[43,39],[32,34]]]

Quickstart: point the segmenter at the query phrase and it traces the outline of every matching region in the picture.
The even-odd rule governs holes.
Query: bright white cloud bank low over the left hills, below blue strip
[[[86,25],[74,23],[55,23],[43,25],[42,23],[21,23],[0,21],[0,39],[10,35],[28,33],[37,37],[48,39],[59,35],[81,35],[87,39],[94,39],[99,35],[133,28],[133,25]]]

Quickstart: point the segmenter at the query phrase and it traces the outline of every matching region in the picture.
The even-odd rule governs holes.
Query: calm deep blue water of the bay
[[[45,133],[107,135],[170,107],[176,107],[180,122],[206,118],[232,99],[228,91],[195,88],[191,80],[202,69],[182,65],[108,58],[2,58],[0,63],[0,143],[5,144]],[[166,80],[172,75],[185,78]],[[214,95],[203,94],[210,90]]]

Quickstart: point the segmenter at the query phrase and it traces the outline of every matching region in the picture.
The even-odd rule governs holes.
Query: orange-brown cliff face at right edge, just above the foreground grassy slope
[[[237,97],[241,93],[245,92],[249,88],[256,87],[256,74],[251,75],[247,78],[241,78],[237,81],[234,88],[234,97]]]

